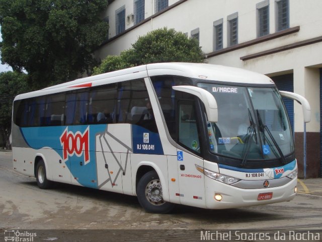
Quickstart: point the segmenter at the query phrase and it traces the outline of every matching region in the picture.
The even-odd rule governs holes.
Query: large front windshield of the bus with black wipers
[[[291,128],[274,87],[198,83],[214,95],[218,122],[207,123],[212,153],[249,159],[279,159],[294,151]]]

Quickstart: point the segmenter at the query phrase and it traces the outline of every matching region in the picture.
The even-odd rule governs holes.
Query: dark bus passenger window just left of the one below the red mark
[[[49,126],[61,126],[65,123],[65,95],[54,94],[47,97],[45,123]]]

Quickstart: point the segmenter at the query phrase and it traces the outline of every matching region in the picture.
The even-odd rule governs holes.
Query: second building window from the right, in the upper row
[[[257,37],[269,34],[269,1],[256,5],[257,9]]]

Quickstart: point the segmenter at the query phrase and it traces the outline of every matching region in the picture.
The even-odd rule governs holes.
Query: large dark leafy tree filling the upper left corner
[[[0,0],[2,61],[26,70],[35,88],[90,74],[106,39],[107,0]]]

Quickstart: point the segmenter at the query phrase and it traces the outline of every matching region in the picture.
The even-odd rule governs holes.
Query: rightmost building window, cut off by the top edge
[[[276,31],[289,28],[289,1],[275,0]]]

